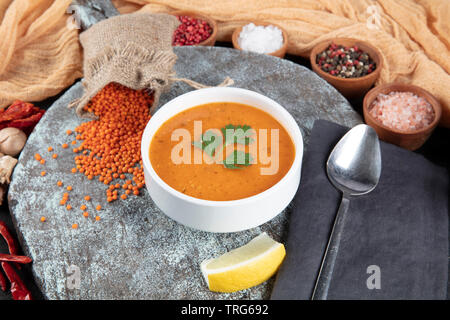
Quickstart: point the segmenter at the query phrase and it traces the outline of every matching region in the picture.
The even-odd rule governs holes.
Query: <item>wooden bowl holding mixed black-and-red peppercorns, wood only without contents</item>
[[[375,70],[363,77],[359,78],[339,78],[332,76],[331,74],[323,71],[316,63],[316,57],[319,53],[324,51],[331,43],[338,45],[343,45],[351,47],[357,45],[361,50],[367,52],[369,56],[375,61]],[[354,98],[358,96],[363,96],[375,83],[378,76],[380,75],[381,68],[383,67],[383,59],[381,58],[381,53],[377,48],[370,45],[369,43],[350,38],[337,38],[329,39],[319,42],[314,46],[309,56],[312,69],[333,87],[335,87],[343,96],[346,98]]]

